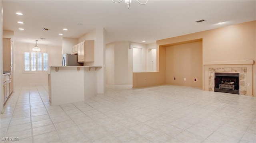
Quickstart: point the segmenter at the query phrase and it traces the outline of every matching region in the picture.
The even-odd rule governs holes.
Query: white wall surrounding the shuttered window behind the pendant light
[[[15,62],[15,85],[27,83],[48,83],[47,73],[23,73],[23,52],[31,51],[34,44],[15,42],[14,62]],[[62,65],[62,47],[38,45],[42,52],[49,54],[48,66]]]

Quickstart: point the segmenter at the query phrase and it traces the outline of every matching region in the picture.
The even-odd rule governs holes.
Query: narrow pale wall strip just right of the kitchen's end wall
[[[115,84],[115,45],[106,45],[106,83]]]

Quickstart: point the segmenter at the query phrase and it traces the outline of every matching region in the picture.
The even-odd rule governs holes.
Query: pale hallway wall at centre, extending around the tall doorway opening
[[[117,85],[132,84],[133,47],[142,49],[142,71],[146,71],[148,50],[146,44],[124,41],[108,43],[106,47],[106,58],[108,58],[106,59],[106,83]]]

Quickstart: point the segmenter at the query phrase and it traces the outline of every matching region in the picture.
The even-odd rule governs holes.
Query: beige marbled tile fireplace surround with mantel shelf
[[[252,96],[252,66],[253,60],[204,62],[204,90],[214,91],[214,73],[240,73],[241,95]]]

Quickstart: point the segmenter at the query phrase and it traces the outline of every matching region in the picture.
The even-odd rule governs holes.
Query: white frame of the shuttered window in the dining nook
[[[25,52],[28,52],[29,53],[29,67],[30,67],[30,70],[29,71],[25,71]],[[47,73],[49,72],[49,53],[48,52],[44,52],[44,51],[41,51],[41,52],[35,52],[36,53],[36,71],[31,71],[31,53],[33,53],[33,51],[25,51],[25,50],[22,50],[22,73]],[[42,53],[42,71],[38,71],[38,53]],[[47,71],[44,71],[44,58],[43,58],[43,55],[44,53],[47,54],[47,58],[48,58],[48,61],[47,61],[47,67],[48,67],[48,70]]]

